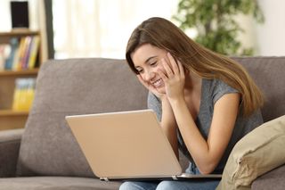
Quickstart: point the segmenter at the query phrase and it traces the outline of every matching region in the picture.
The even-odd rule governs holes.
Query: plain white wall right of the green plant
[[[265,23],[256,24],[258,55],[285,55],[285,1],[258,0]]]

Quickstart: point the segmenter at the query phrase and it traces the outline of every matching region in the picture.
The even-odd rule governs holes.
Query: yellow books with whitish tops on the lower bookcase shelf
[[[35,96],[36,78],[16,78],[13,111],[29,111]]]

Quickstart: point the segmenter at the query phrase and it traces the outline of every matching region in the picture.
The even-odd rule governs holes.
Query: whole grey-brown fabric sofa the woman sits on
[[[265,121],[285,114],[285,57],[235,58],[266,96]],[[95,178],[66,115],[141,110],[147,91],[125,60],[88,58],[45,62],[25,129],[0,131],[0,189],[118,189]],[[185,158],[181,161],[186,167]],[[256,178],[252,189],[281,189],[285,166]]]

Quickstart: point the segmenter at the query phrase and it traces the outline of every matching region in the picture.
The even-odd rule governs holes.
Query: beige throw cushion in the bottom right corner
[[[232,149],[217,189],[250,189],[254,179],[285,163],[285,115],[244,136]]]

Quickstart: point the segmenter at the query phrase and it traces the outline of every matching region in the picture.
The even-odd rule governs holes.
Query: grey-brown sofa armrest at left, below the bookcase
[[[14,177],[23,128],[0,131],[0,178]]]

